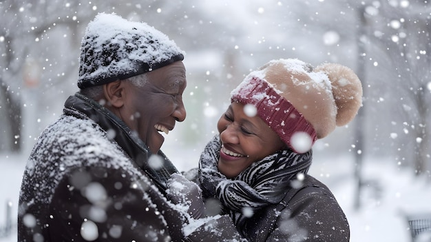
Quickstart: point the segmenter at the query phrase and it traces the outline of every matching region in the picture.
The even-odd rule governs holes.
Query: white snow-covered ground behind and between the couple
[[[178,150],[182,150],[179,155]],[[174,153],[175,152],[175,153]],[[197,150],[165,150],[179,170],[187,170],[197,163]],[[174,154],[176,154],[174,156]],[[0,154],[0,226],[5,225],[6,202],[12,203],[12,218],[16,223],[17,202],[21,175],[26,157],[17,154]],[[195,161],[193,161],[195,160]],[[399,169],[393,162],[382,159],[364,161],[363,176],[375,181],[380,191],[372,185],[364,189],[361,209],[354,209],[355,180],[353,157],[341,156],[324,159],[315,155],[311,174],[333,190],[350,223],[352,242],[410,241],[408,223],[402,212],[428,212],[431,214],[431,183],[415,178],[412,172]],[[16,228],[12,235],[0,238],[0,242],[17,241]],[[431,241],[428,237],[426,240]]]

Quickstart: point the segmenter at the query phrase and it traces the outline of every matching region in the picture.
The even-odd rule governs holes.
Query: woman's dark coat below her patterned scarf
[[[256,212],[246,221],[245,230],[249,241],[350,240],[348,221],[337,200],[326,185],[309,175],[281,203]]]

